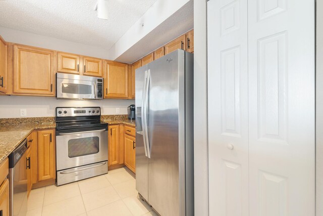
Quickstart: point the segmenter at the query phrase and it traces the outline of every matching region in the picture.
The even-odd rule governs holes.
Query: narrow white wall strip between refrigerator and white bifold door
[[[206,0],[194,1],[194,211],[208,215]]]

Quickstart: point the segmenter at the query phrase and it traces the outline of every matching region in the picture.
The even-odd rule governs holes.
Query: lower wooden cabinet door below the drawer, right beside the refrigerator
[[[125,165],[136,172],[136,138],[125,135]]]

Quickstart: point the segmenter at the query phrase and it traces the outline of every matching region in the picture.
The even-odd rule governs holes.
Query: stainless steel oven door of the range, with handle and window
[[[107,160],[107,127],[56,131],[57,170]]]

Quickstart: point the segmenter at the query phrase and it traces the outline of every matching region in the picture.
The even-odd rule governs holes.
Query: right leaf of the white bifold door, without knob
[[[314,0],[248,0],[250,215],[314,215],[314,32]]]

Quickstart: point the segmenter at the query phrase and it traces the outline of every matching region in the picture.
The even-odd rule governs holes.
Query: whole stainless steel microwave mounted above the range
[[[68,73],[56,74],[57,99],[103,99],[103,78]]]

